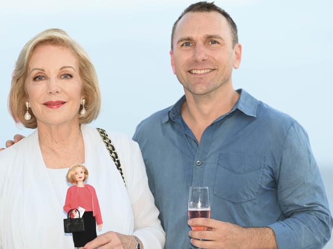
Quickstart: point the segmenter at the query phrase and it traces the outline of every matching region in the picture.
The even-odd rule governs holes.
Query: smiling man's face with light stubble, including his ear
[[[241,45],[232,47],[229,24],[218,12],[189,12],[178,22],[170,51],[173,73],[185,93],[205,95],[231,84]]]

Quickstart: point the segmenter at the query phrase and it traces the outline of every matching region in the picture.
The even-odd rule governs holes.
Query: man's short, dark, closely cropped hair
[[[207,3],[206,1],[203,2],[198,2],[195,4],[191,4],[188,6],[183,13],[178,17],[178,19],[174,22],[172,26],[172,32],[171,32],[171,50],[173,49],[173,36],[174,36],[174,30],[177,27],[177,24],[179,20],[188,12],[212,12],[216,11],[223,15],[229,24],[230,30],[231,30],[231,35],[232,35],[232,47],[234,47],[238,43],[238,31],[237,31],[237,26],[236,23],[232,20],[231,16],[223,9],[220,7],[216,6],[214,2],[212,3]]]

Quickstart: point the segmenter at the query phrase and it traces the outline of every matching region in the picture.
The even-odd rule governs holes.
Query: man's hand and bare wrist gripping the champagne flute
[[[192,228],[189,232],[191,243],[199,248],[278,248],[275,234],[270,228],[243,228],[236,224],[206,218],[190,219],[188,224],[191,227],[207,228],[207,231],[194,231],[195,228]]]

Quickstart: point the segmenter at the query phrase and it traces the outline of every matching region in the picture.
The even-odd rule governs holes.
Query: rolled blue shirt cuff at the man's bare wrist
[[[301,248],[297,234],[289,227],[285,222],[275,222],[268,225],[268,228],[275,233],[275,239],[277,241],[278,248],[283,249],[297,249]]]

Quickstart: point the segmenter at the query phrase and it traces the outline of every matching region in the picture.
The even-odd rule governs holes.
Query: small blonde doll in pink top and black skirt
[[[64,210],[68,213],[71,209],[82,207],[85,209],[83,216],[85,231],[73,233],[74,246],[78,249],[89,241],[97,237],[96,223],[99,230],[102,230],[103,221],[100,210],[99,201],[96,196],[95,189],[83,182],[88,178],[88,169],[81,164],[72,165],[66,175],[67,182],[73,184],[67,190]],[[71,216],[76,214],[76,210],[72,211]],[[80,212],[81,214],[81,212]]]

